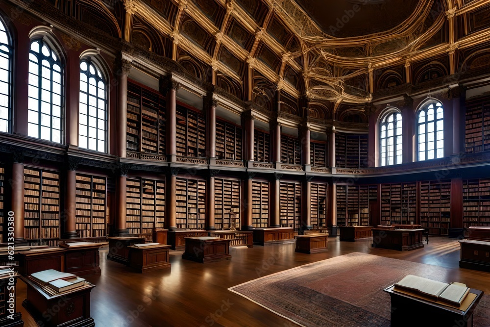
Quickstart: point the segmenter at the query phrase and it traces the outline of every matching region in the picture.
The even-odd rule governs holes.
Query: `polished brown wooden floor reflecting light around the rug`
[[[91,316],[98,327],[226,326],[289,327],[295,324],[246,300],[228,287],[306,263],[350,252],[365,252],[401,260],[452,268],[446,281],[459,281],[490,293],[490,273],[458,268],[456,239],[431,237],[429,245],[409,252],[373,249],[371,239],[340,242],[330,238],[328,252],[294,252],[294,244],[231,248],[227,261],[201,264],[171,251],[172,268],[146,274],[131,273],[100,251],[102,274],[86,279],[97,285],[91,293]],[[22,307],[25,284],[18,282],[17,305],[25,327],[37,326]]]

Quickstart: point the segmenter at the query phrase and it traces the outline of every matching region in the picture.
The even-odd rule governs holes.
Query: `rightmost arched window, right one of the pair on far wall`
[[[444,115],[439,101],[430,101],[417,114],[417,160],[444,156]]]

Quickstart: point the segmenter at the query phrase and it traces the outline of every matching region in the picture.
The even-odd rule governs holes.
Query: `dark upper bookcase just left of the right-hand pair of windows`
[[[335,162],[338,168],[368,167],[368,134],[335,134]]]

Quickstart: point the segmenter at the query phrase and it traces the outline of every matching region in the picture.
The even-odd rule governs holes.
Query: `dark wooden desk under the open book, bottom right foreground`
[[[483,296],[483,291],[470,289],[470,293],[476,294],[476,298],[465,311],[462,311],[395,292],[393,291],[393,285],[384,291],[389,293],[391,298],[392,326],[471,327],[473,324],[473,310]]]

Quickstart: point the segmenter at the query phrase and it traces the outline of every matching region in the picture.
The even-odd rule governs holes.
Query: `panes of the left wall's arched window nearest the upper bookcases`
[[[78,147],[107,151],[107,92],[100,69],[90,58],[80,61]]]

